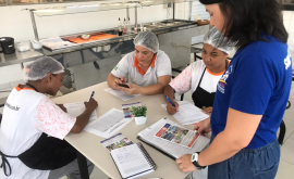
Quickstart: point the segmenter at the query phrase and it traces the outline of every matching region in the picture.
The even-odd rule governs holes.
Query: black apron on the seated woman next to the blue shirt
[[[200,87],[205,72],[206,72],[206,68],[204,69],[204,73],[201,75],[201,78],[198,82],[196,90],[192,94],[194,104],[199,108],[212,106],[213,101],[215,101],[215,95],[216,95],[216,92],[211,92],[211,93],[207,92]]]

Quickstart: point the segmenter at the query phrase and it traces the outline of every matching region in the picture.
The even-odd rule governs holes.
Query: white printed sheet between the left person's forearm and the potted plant
[[[110,138],[131,120],[132,118],[124,118],[122,111],[111,108],[96,120],[90,122],[85,130],[102,138]]]

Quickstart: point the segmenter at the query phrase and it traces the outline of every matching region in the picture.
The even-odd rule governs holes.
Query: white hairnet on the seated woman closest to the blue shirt
[[[236,42],[225,38],[216,27],[211,28],[204,37],[204,43],[230,54],[235,49]]]

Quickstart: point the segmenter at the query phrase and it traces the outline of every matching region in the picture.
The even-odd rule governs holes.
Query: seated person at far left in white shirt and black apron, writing
[[[66,114],[64,106],[54,104],[47,94],[57,94],[63,73],[61,63],[48,56],[24,68],[26,84],[11,91],[3,108],[1,179],[81,178],[76,151],[63,139],[69,132],[84,129],[98,103],[94,99],[85,102],[85,112],[76,118]],[[89,172],[93,168],[88,162]]]

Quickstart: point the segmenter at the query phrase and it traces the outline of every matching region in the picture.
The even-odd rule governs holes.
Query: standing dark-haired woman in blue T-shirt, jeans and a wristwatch
[[[232,41],[237,52],[217,86],[212,115],[198,123],[212,130],[205,151],[176,159],[179,168],[208,167],[208,179],[273,179],[280,146],[277,131],[292,82],[281,4],[277,0],[200,0],[210,25]],[[199,152],[199,151],[196,151]]]

